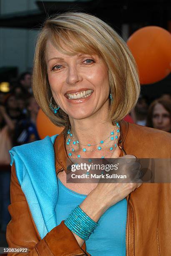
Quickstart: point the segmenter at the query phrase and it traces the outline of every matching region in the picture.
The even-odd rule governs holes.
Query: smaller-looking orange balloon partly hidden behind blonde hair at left
[[[38,112],[36,125],[41,139],[48,135],[53,136],[55,134],[59,134],[64,129],[63,127],[54,125],[41,109]]]

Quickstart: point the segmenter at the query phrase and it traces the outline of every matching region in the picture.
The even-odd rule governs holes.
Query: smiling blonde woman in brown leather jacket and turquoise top
[[[122,167],[131,166],[139,176],[135,156],[170,158],[170,134],[122,121],[139,90],[130,51],[102,20],[64,13],[45,22],[35,51],[33,91],[53,123],[65,129],[10,151],[10,247],[28,247],[28,255],[169,254],[168,184],[66,183],[67,161],[75,159],[129,154],[133,161]],[[150,141],[156,136],[154,146]]]

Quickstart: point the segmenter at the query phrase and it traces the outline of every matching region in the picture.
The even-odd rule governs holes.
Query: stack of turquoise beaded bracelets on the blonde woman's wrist
[[[64,221],[67,228],[78,235],[83,240],[88,240],[89,236],[94,233],[99,223],[92,220],[80,207],[77,205]]]

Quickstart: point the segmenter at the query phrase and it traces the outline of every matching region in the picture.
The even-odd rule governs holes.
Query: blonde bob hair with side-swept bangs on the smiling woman
[[[108,121],[120,121],[136,105],[140,92],[136,63],[116,31],[99,18],[86,13],[56,15],[45,21],[38,36],[33,65],[33,93],[43,112],[55,125],[64,126],[64,132],[70,127],[68,115],[61,108],[57,114],[49,108],[52,92],[45,63],[48,40],[64,54],[98,54],[103,59],[113,95]]]

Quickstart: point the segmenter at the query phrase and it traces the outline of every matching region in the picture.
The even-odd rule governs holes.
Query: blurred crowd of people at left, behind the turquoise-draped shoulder
[[[10,154],[13,146],[39,140],[36,118],[39,106],[31,89],[31,74],[25,72],[0,91],[0,231],[10,221]]]

